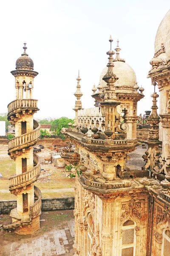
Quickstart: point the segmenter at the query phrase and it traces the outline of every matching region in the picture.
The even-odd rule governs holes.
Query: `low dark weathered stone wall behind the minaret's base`
[[[17,207],[17,200],[0,201],[0,214],[9,214]],[[74,209],[74,197],[42,198],[42,211]]]

